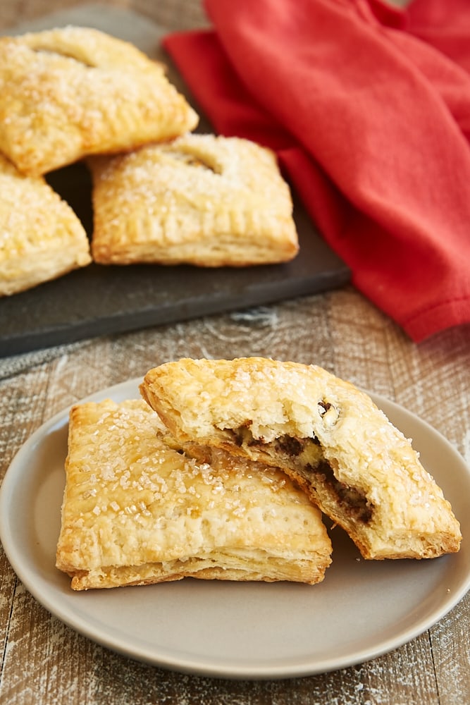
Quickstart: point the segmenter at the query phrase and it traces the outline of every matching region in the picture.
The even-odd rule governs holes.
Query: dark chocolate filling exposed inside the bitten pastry
[[[314,436],[310,439],[299,439],[295,436],[280,436],[272,443],[266,443],[263,439],[255,439],[247,426],[240,426],[237,429],[225,429],[233,436],[237,446],[249,448],[256,447],[262,455],[266,454],[272,460],[270,449],[276,454],[283,455],[284,458],[295,459],[293,467],[302,474],[302,477],[309,482],[312,488],[322,498],[328,494],[334,496],[343,514],[348,515],[351,520],[368,524],[373,516],[373,504],[369,502],[359,488],[340,482],[328,460],[323,456],[323,450],[319,439]]]

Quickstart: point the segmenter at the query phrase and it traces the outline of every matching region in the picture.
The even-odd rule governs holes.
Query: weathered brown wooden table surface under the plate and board
[[[4,3],[0,25],[73,6]],[[116,1],[169,30],[206,23],[198,0]],[[56,412],[178,357],[265,355],[315,363],[395,400],[470,460],[470,327],[412,343],[352,286],[0,360],[0,478]],[[464,537],[465,538],[465,537]],[[470,703],[470,596],[412,642],[343,670],[288,680],[218,680],[133,661],[52,617],[0,551],[0,702],[4,704],[464,705]],[[275,618],[275,615],[273,615]],[[313,635],[314,638],[314,635]]]

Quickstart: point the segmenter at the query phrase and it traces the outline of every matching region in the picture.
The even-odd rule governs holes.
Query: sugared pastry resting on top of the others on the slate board
[[[160,63],[104,32],[0,38],[0,150],[24,173],[166,140],[198,119]]]

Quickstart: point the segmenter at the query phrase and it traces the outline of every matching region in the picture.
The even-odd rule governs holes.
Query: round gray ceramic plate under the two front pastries
[[[140,380],[93,400],[139,396]],[[470,536],[470,472],[443,436],[402,407],[371,395],[414,439]],[[364,561],[333,529],[333,565],[319,585],[174,583],[75,593],[54,567],[68,410],[20,449],[0,491],[0,539],[35,598],[73,629],[140,661],[223,678],[322,673],[374,658],[426,631],[470,588],[470,548],[434,560]]]

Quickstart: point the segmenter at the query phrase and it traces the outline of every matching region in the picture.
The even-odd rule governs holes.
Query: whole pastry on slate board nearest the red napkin
[[[254,142],[183,135],[89,164],[96,262],[246,266],[297,254],[289,187]]]

